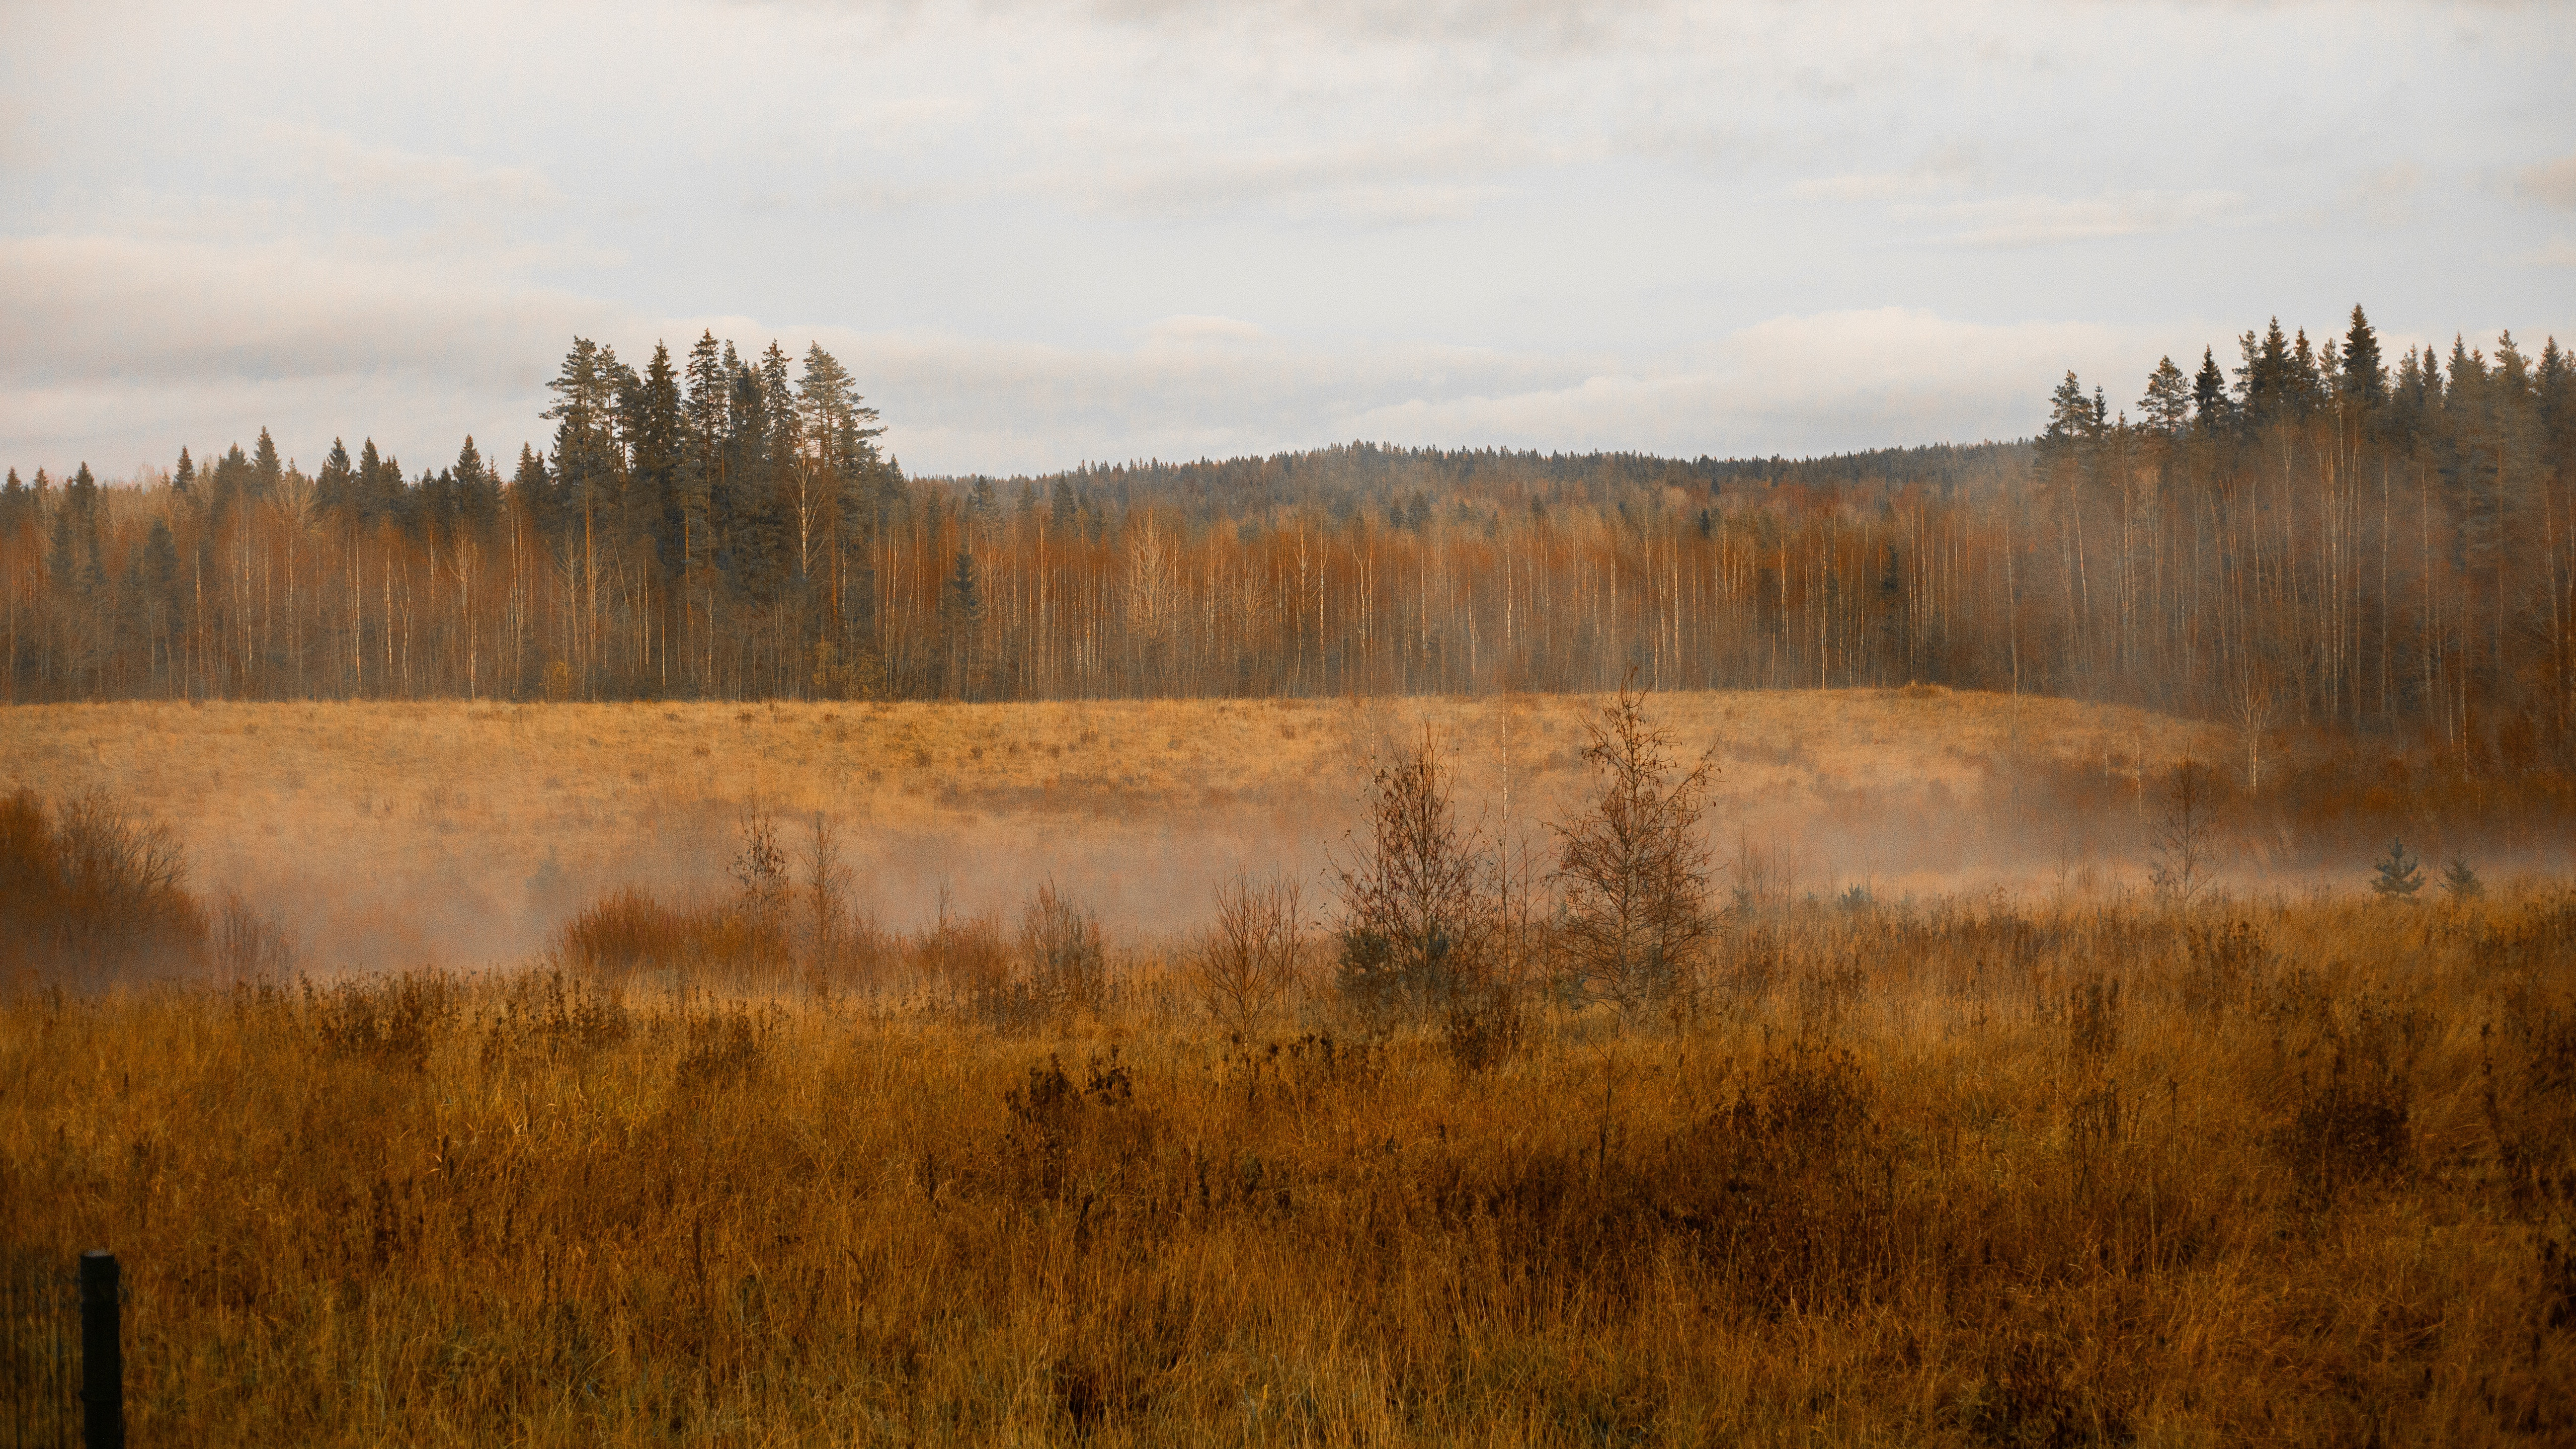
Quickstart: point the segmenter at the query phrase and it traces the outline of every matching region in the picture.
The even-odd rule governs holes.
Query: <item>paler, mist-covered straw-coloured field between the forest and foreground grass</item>
[[[173,825],[312,969],[536,951],[621,884],[721,882],[750,807],[842,822],[894,926],[1015,910],[1054,877],[1113,926],[1203,915],[1236,866],[1321,866],[1370,755],[1430,727],[1461,799],[1538,835],[1584,786],[1579,696],[1110,704],[59,704],[0,712],[0,789],[108,789]],[[1935,895],[2136,877],[2136,830],[2009,810],[2025,766],[2205,758],[2226,737],[2133,709],[1950,691],[1662,694],[1713,750],[1723,848],[1806,890]]]

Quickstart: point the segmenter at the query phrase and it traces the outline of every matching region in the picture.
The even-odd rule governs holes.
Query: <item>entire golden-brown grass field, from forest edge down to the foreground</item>
[[[1654,696],[1744,859],[1602,977],[1368,779],[1530,835],[1592,706],[0,714],[0,1289],[118,1250],[142,1444],[2576,1439],[2563,884],[2112,890],[2223,737]],[[1450,913],[1226,995],[1345,828]]]

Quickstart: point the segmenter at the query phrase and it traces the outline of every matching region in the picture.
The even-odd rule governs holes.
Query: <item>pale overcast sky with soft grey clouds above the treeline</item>
[[[2571,5],[0,3],[0,462],[513,456],[703,327],[912,472],[2022,436],[2275,312],[2576,340],[2571,77]]]

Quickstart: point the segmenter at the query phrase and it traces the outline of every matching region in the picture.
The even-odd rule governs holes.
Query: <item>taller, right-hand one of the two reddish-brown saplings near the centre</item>
[[[1566,985],[1620,1011],[1669,1003],[1698,977],[1716,931],[1700,841],[1716,766],[1708,755],[1690,771],[1674,763],[1672,735],[1646,722],[1633,681],[1584,730],[1602,792],[1589,812],[1553,828]]]

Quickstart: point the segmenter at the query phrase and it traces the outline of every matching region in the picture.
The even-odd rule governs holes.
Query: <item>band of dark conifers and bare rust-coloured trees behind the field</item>
[[[549,446],[265,431],[0,490],[41,699],[1090,699],[1945,683],[2563,748],[2576,361],[2280,322],[2027,443],[1340,446],[904,477],[819,345],[577,340]]]

